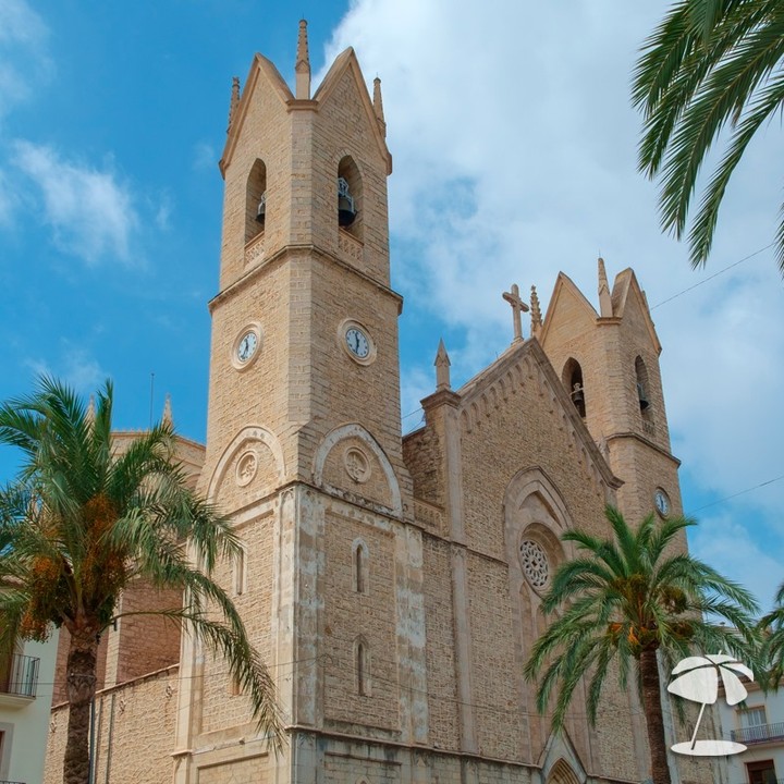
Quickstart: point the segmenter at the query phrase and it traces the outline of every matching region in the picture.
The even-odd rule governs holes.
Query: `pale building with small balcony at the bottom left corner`
[[[58,632],[24,642],[0,676],[0,781],[41,784],[54,681]]]

